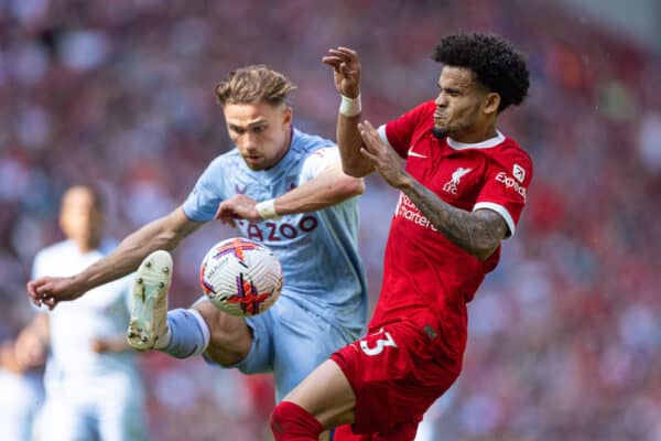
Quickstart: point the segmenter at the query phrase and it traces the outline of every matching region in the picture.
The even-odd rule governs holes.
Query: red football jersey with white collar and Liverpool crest
[[[475,144],[432,133],[434,101],[423,103],[379,128],[402,158],[405,170],[446,203],[466,211],[488,208],[514,228],[532,178],[530,157],[498,132]],[[466,346],[466,303],[485,275],[496,268],[498,248],[480,261],[449,241],[403,193],[386,246],[383,284],[370,332],[404,316],[421,314],[440,331],[434,341],[451,368],[460,369]],[[433,332],[434,333],[434,332]]]

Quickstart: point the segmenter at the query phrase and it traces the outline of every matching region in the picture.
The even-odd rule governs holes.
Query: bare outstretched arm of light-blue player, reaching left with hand
[[[127,236],[115,251],[72,277],[42,277],[28,282],[35,304],[54,308],[59,301],[74,300],[93,288],[132,272],[142,259],[156,249],[173,249],[184,237],[203,225],[186,217],[178,207]]]

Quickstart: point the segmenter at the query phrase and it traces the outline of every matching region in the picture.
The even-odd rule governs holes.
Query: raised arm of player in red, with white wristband
[[[342,165],[348,175],[362,178],[371,173],[373,164],[360,154],[362,140],[357,128],[360,119],[360,62],[358,54],[347,47],[328,50],[322,62],[333,67],[335,87],[343,96],[337,114],[337,147]]]

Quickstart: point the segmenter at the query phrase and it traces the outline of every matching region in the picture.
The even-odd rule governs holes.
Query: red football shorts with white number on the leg
[[[383,326],[337,351],[337,363],[356,394],[356,421],[337,428],[335,441],[413,440],[426,409],[457,379],[444,366],[438,330],[414,320]]]

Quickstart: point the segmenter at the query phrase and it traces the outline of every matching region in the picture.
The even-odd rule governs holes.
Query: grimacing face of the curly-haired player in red
[[[481,141],[495,123],[498,94],[489,93],[464,67],[444,66],[438,79],[440,93],[434,103],[434,133],[459,142]],[[494,129],[495,130],[495,129]]]

